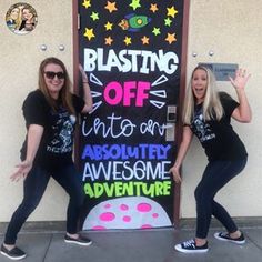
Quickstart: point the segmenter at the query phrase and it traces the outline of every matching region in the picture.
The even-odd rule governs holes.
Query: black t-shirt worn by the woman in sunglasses
[[[72,94],[77,113],[84,107],[84,101]],[[28,94],[22,105],[27,129],[30,124],[43,127],[43,135],[34,159],[34,163],[53,170],[60,165],[72,163],[73,132],[77,118],[63,107],[54,112],[40,90]],[[27,155],[27,138],[21,149],[21,159]]]

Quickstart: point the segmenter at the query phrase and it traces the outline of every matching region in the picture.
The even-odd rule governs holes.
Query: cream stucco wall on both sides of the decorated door
[[[6,12],[17,1],[1,1],[0,9],[0,222],[9,221],[22,196],[22,183],[9,180],[19,162],[19,149],[24,139],[21,104],[37,87],[37,70],[48,56],[61,58],[72,75],[72,1],[31,0],[38,12],[38,26],[27,36],[13,34],[4,23]],[[250,159],[245,171],[226,185],[218,199],[232,215],[262,215],[261,121],[262,91],[262,9],[260,0],[191,0],[188,47],[188,77],[198,62],[232,62],[252,72],[246,93],[253,109],[250,124],[233,123],[246,144]],[[47,51],[40,46],[46,44]],[[59,50],[59,44],[66,47]],[[213,51],[212,57],[209,51]],[[198,53],[193,57],[192,53]],[[226,82],[219,83],[234,95]],[[195,216],[193,190],[206,163],[198,141],[193,142],[183,167],[181,215]],[[64,220],[68,196],[52,180],[41,204],[30,221]]]

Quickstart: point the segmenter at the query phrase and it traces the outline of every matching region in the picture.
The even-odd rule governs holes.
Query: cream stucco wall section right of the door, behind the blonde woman
[[[246,94],[253,111],[252,123],[233,127],[249,152],[245,170],[219,192],[221,201],[234,216],[261,216],[261,108],[262,108],[262,30],[259,0],[193,0],[190,7],[188,78],[199,62],[238,63],[252,77]],[[213,56],[209,52],[213,51]],[[196,53],[193,57],[192,53]],[[219,82],[234,98],[229,82]],[[203,150],[194,140],[183,168],[181,215],[195,216],[193,192],[206,164]]]

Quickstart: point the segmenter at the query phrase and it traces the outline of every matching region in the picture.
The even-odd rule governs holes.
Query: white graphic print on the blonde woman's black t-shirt
[[[215,138],[210,124],[204,121],[202,110],[195,113],[191,128],[201,143]]]

